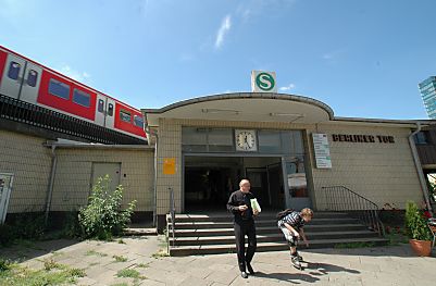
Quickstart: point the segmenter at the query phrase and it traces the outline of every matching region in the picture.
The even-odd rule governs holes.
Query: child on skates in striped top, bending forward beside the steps
[[[277,225],[278,228],[285,235],[286,241],[290,249],[290,261],[294,266],[301,270],[302,258],[298,254],[297,243],[298,239],[304,241],[306,246],[309,247],[309,241],[306,237],[303,226],[313,217],[313,211],[309,208],[304,208],[301,212],[287,209],[283,212],[277,213]]]

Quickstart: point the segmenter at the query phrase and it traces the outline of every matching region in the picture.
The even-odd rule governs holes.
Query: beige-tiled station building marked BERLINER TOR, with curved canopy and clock
[[[1,119],[3,220],[77,210],[104,174],[113,187],[124,187],[125,203],[137,200],[134,220],[153,220],[160,229],[172,206],[177,213],[225,212],[241,178],[250,179],[266,210],[328,210],[332,188],[378,208],[404,209],[408,200],[431,207],[416,138],[433,121],[337,117],[319,100],[263,91],[205,96],[142,112],[144,146],[48,140],[5,128]],[[347,192],[340,194],[336,203],[349,203]]]

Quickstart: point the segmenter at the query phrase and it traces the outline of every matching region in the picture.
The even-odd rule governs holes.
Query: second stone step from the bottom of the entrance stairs
[[[307,233],[309,240],[316,239],[336,239],[336,238],[358,238],[358,237],[377,237],[377,234],[370,231],[356,232],[323,232],[323,233]],[[258,243],[282,241],[284,236],[282,233],[257,235]],[[197,245],[226,245],[235,241],[234,235],[228,236],[207,236],[207,237],[176,237],[176,246],[197,246]],[[170,237],[170,244],[173,245],[173,238]]]

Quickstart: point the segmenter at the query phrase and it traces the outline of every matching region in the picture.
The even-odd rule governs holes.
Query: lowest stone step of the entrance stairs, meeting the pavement
[[[388,239],[385,238],[341,238],[341,239],[319,239],[310,240],[310,249],[333,248],[340,244],[371,243],[374,246],[385,246]],[[259,243],[257,252],[288,250],[286,241],[282,243]],[[227,245],[203,245],[203,246],[176,246],[170,247],[170,256],[182,257],[190,254],[217,254],[235,252],[235,244]]]

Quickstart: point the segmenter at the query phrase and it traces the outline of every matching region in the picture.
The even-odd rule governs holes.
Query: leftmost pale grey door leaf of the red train
[[[0,94],[12,98],[18,98],[25,66],[25,60],[8,53],[3,78],[1,78]]]

